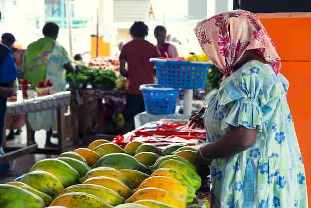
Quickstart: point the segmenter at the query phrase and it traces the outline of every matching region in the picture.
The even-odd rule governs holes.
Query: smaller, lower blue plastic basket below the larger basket
[[[145,109],[150,114],[173,114],[179,98],[179,89],[164,88],[158,84],[140,85]]]

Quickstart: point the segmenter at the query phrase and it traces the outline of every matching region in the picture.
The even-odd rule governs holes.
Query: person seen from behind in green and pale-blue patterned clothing
[[[74,68],[65,48],[56,42],[58,31],[57,24],[46,23],[42,30],[44,38],[27,47],[24,71],[33,89],[39,81],[50,79],[56,93],[66,90],[66,71],[71,72]],[[47,131],[46,146],[57,146],[51,142],[52,131],[57,131],[56,110],[28,113],[27,117],[32,129],[32,142],[35,142],[35,131],[44,129]]]

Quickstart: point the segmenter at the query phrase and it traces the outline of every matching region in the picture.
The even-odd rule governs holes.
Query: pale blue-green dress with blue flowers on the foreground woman
[[[207,142],[219,139],[230,125],[258,132],[246,151],[212,160],[212,208],[308,208],[288,86],[269,64],[249,61],[207,95]]]

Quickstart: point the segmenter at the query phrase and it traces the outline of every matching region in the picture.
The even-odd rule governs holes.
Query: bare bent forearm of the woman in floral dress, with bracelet
[[[255,142],[256,135],[257,129],[230,126],[230,132],[200,148],[202,155],[197,154],[197,160],[201,165],[208,165],[211,159],[232,157],[247,150]]]

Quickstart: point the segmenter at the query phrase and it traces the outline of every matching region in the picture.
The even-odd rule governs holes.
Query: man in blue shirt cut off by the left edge
[[[7,46],[0,43],[0,156],[4,154],[1,145],[4,134],[6,100],[8,97],[14,95],[14,80],[17,76],[18,72],[14,64],[12,51]],[[8,163],[0,164],[0,171],[8,168]]]

